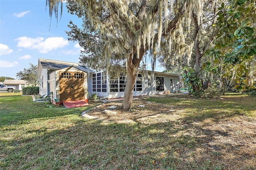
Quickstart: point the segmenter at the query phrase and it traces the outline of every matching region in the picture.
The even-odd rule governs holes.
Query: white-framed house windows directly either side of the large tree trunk
[[[116,79],[111,79],[109,83],[110,92],[124,92],[124,89],[126,86],[126,80],[127,80],[127,77],[125,75],[120,75]],[[142,75],[141,74],[138,74],[138,76],[136,77],[133,91],[142,91]]]

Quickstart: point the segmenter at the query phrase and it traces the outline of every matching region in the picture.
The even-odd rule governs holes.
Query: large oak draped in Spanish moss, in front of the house
[[[126,66],[123,109],[129,110],[142,60],[149,56],[154,70],[156,58],[160,55],[172,51],[179,57],[191,55],[192,48],[185,43],[184,28],[190,26],[191,20],[201,23],[205,1],[67,0],[68,12],[83,21],[82,28],[70,22],[68,34],[70,40],[78,40],[89,54],[81,57],[89,66],[106,68],[108,73],[111,70],[119,73],[120,68]],[[50,16],[52,12],[58,16],[62,0],[46,2]]]

